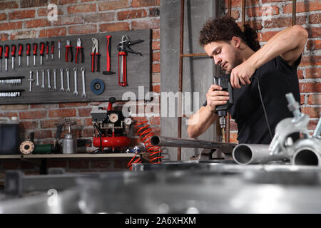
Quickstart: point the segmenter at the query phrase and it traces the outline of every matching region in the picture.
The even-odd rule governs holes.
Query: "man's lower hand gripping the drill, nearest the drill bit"
[[[213,84],[210,86],[208,93],[206,93],[207,107],[209,107],[212,112],[215,111],[217,105],[224,105],[227,103],[227,100],[230,99],[228,97],[228,92],[220,91],[222,89],[222,87]]]

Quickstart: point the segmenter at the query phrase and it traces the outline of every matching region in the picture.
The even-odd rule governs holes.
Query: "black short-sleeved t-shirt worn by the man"
[[[301,56],[294,66],[290,66],[277,56],[255,71],[250,85],[241,85],[240,89],[233,89],[234,104],[229,113],[238,124],[239,143],[270,144],[272,140],[260,101],[258,81],[272,135],[275,134],[277,123],[293,117],[287,108],[285,94],[292,93],[300,103],[297,78],[297,66],[300,61]],[[258,78],[258,81],[254,77]],[[203,106],[206,104],[205,102]]]

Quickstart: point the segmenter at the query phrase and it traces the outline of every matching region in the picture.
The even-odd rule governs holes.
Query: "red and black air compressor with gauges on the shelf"
[[[93,146],[99,147],[99,152],[123,152],[131,144],[126,136],[131,129],[131,118],[125,118],[119,110],[112,110],[116,98],[109,98],[107,110],[98,107],[98,110],[91,111],[95,135]],[[97,134],[96,134],[97,133]],[[106,150],[104,148],[107,147]]]

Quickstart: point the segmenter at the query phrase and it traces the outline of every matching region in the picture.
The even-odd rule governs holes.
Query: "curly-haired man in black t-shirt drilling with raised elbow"
[[[235,19],[221,17],[205,23],[199,41],[215,65],[230,73],[234,104],[229,113],[238,124],[238,142],[270,144],[277,123],[292,117],[285,94],[293,93],[300,103],[297,66],[307,31],[297,25],[286,28],[262,48],[257,37],[250,26],[243,32]],[[218,118],[215,107],[228,100],[228,92],[221,90],[218,85],[210,86],[205,104],[189,119],[190,137],[205,133]]]

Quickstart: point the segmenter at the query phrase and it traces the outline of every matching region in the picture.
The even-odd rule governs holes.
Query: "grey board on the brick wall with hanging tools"
[[[106,35],[111,35],[111,71],[115,72],[111,75],[104,75],[102,72],[106,71],[106,51],[107,39]],[[122,36],[129,36],[131,41],[138,39],[143,40],[142,43],[137,43],[131,46],[134,51],[142,53],[143,56],[128,53],[127,55],[127,86],[118,86],[118,43],[121,41]],[[75,63],[75,54],[77,46],[77,38],[81,38],[81,46],[83,46],[84,63]],[[98,39],[98,51],[100,56],[100,71],[91,72],[91,51],[93,41],[91,38]],[[61,58],[58,58],[58,40],[61,41]],[[71,41],[73,62],[65,61],[66,41]],[[54,41],[54,59],[51,60],[51,41]],[[43,65],[40,65],[39,44],[41,42],[49,42],[49,59],[46,59],[46,53],[43,58]],[[23,45],[23,56],[21,58],[21,67],[18,66],[18,45]],[[31,43],[31,54],[29,56],[29,67],[26,64],[26,43]],[[38,44],[36,55],[36,66],[34,66],[34,55],[32,44]],[[69,102],[91,102],[91,101],[106,101],[110,97],[115,97],[116,100],[122,100],[123,93],[133,92],[138,98],[138,86],[143,86],[144,96],[150,91],[151,88],[151,29],[143,29],[138,31],[118,31],[108,33],[94,33],[83,34],[76,36],[60,36],[51,38],[36,38],[36,39],[22,39],[16,41],[1,41],[0,45],[5,46],[12,44],[16,45],[16,56],[14,59],[14,69],[11,69],[11,48],[9,51],[8,71],[5,71],[5,58],[4,52],[1,58],[1,71],[0,71],[0,104],[21,104],[21,103],[69,103]],[[45,48],[46,50],[46,48]],[[4,50],[5,51],[5,50]],[[78,56],[79,58],[79,56]],[[70,59],[70,56],[69,56]],[[86,98],[81,97],[82,93],[82,76],[81,68],[85,68],[85,86]],[[67,88],[67,74],[66,68],[69,69],[69,86],[71,92],[66,92]],[[77,90],[78,95],[73,95],[74,92],[74,72],[73,68],[77,68]],[[42,73],[44,69],[44,87],[42,86]],[[50,85],[47,70],[50,70]],[[54,88],[54,69],[56,69],[56,91]],[[61,72],[63,69],[63,88],[61,91]],[[39,86],[36,86],[36,70],[39,71]],[[29,77],[32,71],[32,91],[29,91]],[[21,77],[21,83],[4,83],[1,79],[9,77]],[[96,95],[91,90],[91,82],[95,79],[100,79],[105,84],[103,93]],[[142,89],[142,87],[141,87]],[[3,97],[4,91],[20,91],[21,96],[16,97]],[[13,95],[13,93],[11,93]]]

